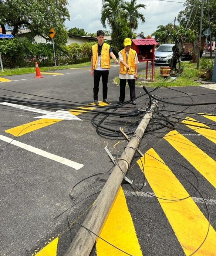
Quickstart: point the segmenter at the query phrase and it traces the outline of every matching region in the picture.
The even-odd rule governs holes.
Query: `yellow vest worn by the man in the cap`
[[[133,49],[130,49],[128,53],[128,58],[127,58],[125,49],[122,49],[120,52],[122,54],[124,62],[129,65],[130,69],[127,70],[126,67],[120,62],[119,73],[126,74],[128,72],[129,75],[134,75],[136,51]]]

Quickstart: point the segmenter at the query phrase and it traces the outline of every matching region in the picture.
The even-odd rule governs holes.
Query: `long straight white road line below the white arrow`
[[[69,167],[74,168],[75,170],[79,170],[80,168],[82,168],[84,166],[83,164],[79,164],[79,163],[71,161],[71,160],[69,160],[67,158],[51,154],[51,153],[46,152],[44,150],[41,150],[39,148],[35,148],[33,146],[27,145],[27,144],[25,144],[23,142],[20,142],[20,141],[16,141],[14,139],[11,139],[11,138],[3,136],[3,135],[0,135],[0,140],[5,141],[7,143],[10,143],[12,145],[15,145],[17,147],[23,148],[23,149],[25,149],[27,151],[33,152],[33,153],[35,153],[37,155],[41,155],[42,157],[46,157],[46,158],[51,159],[53,161],[56,161],[58,163],[67,165]]]

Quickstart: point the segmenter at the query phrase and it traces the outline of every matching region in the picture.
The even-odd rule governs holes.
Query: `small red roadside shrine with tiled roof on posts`
[[[155,60],[155,45],[158,43],[153,38],[145,39],[132,39],[131,48],[136,51],[139,62],[146,62],[146,79],[148,78],[148,65],[149,61],[152,62],[152,76],[151,81],[153,81],[154,75],[154,60]],[[150,65],[149,65],[150,66]]]

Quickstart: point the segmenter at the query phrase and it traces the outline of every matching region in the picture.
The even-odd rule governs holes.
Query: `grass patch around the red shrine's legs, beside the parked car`
[[[162,76],[159,75],[159,66],[155,66],[155,79],[153,82],[145,81],[145,74],[146,70],[142,70],[138,72],[138,79],[136,81],[136,86],[149,86],[149,87],[156,87],[159,85],[163,85],[166,87],[169,86],[196,86],[200,85],[201,83],[195,82],[195,79],[198,78],[199,70],[196,69],[196,63],[189,63],[189,62],[182,62],[184,69],[183,72],[178,76],[177,79],[169,78],[165,80]],[[149,76],[149,72],[148,72]],[[119,84],[119,78],[116,77],[114,82]]]

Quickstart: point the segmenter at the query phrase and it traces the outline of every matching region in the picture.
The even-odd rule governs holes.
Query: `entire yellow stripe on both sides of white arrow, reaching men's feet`
[[[87,107],[78,107],[82,110],[76,110],[76,109],[71,109],[71,113],[73,115],[80,115],[84,112],[87,112],[88,110],[90,109],[95,109],[94,108],[94,103],[91,103],[93,108],[91,108],[89,105]],[[105,105],[108,105],[102,101],[99,101],[99,105],[97,106],[105,106]],[[43,127],[46,127],[48,125],[51,125],[51,124],[55,124],[57,122],[60,122],[62,121],[63,119],[47,119],[47,118],[42,118],[42,119],[38,119],[36,121],[33,121],[33,122],[29,122],[27,124],[22,124],[22,125],[19,125],[19,126],[16,126],[16,127],[13,127],[13,128],[10,128],[10,129],[7,129],[5,130],[5,132],[7,133],[10,133],[14,136],[22,136],[24,134],[27,134],[28,132],[32,132],[32,131],[35,131],[35,130],[38,130],[40,128],[43,128]]]

